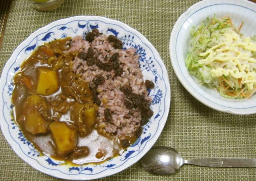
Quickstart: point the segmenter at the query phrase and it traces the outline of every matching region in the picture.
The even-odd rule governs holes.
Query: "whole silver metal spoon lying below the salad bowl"
[[[141,163],[146,171],[156,175],[174,174],[183,164],[205,167],[256,167],[256,159],[203,158],[185,160],[174,148],[169,147],[150,149],[141,159]]]

